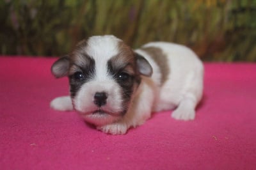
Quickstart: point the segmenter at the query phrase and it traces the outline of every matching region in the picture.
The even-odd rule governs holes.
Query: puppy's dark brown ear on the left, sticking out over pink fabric
[[[58,59],[52,65],[52,68],[51,68],[52,74],[56,78],[60,78],[68,75],[69,63],[70,61],[68,56],[64,56],[63,58]]]

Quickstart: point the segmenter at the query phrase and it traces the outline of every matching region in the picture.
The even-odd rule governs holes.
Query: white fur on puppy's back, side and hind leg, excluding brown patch
[[[188,47],[175,43],[152,42],[143,47],[161,48],[164,54],[168,56],[170,74],[168,81],[159,89],[154,111],[175,109],[178,106],[172,114],[173,118],[177,120],[193,120],[195,118],[193,114],[195,114],[196,104],[201,100],[203,91],[204,66],[200,59]],[[143,55],[150,65],[154,66],[154,61],[150,59],[147,53],[140,49],[136,50],[136,52]],[[153,70],[157,69],[153,67]],[[156,84],[159,83],[157,80],[158,74],[159,72],[153,72],[152,75],[152,80]],[[187,109],[182,107],[184,102],[191,105],[194,112],[190,111],[189,114],[186,111]]]

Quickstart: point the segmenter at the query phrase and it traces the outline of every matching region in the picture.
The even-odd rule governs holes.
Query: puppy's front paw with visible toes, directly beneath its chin
[[[125,123],[113,123],[110,125],[104,125],[102,127],[97,127],[98,130],[106,134],[113,134],[113,135],[123,135],[127,132],[127,125]]]

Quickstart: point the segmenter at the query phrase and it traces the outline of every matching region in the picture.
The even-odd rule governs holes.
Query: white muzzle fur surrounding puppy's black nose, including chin
[[[106,79],[106,78],[105,78]],[[106,105],[102,106],[104,111],[111,112],[111,115],[90,115],[98,109],[98,107],[93,104],[93,96],[96,92],[106,91],[108,95]],[[122,111],[122,98],[120,97],[120,88],[115,81],[105,80],[97,81],[93,80],[83,84],[81,89],[78,91],[76,97],[74,98],[75,109],[81,116],[89,122],[94,123],[97,119],[97,125],[105,125],[106,123],[111,123],[115,121],[118,117],[115,114]]]

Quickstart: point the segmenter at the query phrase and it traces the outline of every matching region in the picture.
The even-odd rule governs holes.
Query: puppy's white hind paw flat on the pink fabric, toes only
[[[176,120],[194,120],[195,119],[195,110],[193,109],[176,109],[172,112],[172,118]]]

